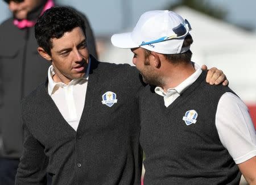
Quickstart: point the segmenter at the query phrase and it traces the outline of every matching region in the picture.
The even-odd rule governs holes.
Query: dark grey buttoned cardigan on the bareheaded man
[[[52,184],[140,184],[138,75],[129,65],[92,58],[77,132],[47,94],[47,83],[27,96],[22,103],[24,150],[15,184],[46,184],[46,171]],[[117,95],[112,107],[101,102],[107,91]]]

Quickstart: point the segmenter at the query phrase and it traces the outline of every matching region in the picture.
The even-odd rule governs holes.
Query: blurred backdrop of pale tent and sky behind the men
[[[110,43],[114,33],[131,31],[149,10],[172,10],[193,28],[192,61],[216,66],[227,75],[230,87],[247,104],[256,123],[256,1],[234,0],[109,0],[56,1],[83,12],[96,36],[100,61],[132,64],[133,54]],[[11,16],[0,1],[0,23]]]

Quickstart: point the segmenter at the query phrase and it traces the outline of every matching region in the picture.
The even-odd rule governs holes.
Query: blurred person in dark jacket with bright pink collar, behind
[[[46,79],[49,63],[39,56],[34,25],[51,0],[13,0],[5,2],[13,17],[0,25],[0,184],[13,185],[22,153],[23,133],[20,100]],[[97,57],[94,36],[84,15],[89,52]]]

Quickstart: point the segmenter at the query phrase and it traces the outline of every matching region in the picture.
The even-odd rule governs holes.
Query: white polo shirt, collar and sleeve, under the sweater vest
[[[161,87],[155,88],[155,93],[163,96],[166,107],[170,106],[200,76],[202,73],[200,66],[195,64],[195,69],[195,73],[177,87],[168,89],[167,93]],[[225,93],[221,96],[215,124],[220,141],[229,151],[234,162],[239,164],[256,156],[256,133],[253,121],[245,103],[240,98],[233,93]]]

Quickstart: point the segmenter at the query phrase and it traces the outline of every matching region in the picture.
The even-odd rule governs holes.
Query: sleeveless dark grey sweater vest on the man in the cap
[[[230,91],[205,82],[206,73],[170,106],[148,86],[141,99],[140,141],[146,160],[145,185],[239,184],[241,173],[218,137],[215,115],[221,96]],[[190,110],[196,123],[185,124]],[[230,120],[232,121],[232,120]]]

